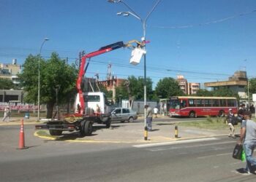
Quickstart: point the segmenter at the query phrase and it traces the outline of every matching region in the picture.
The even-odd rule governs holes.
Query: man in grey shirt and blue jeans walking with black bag
[[[255,173],[256,158],[253,157],[253,151],[256,147],[256,123],[251,120],[251,112],[244,111],[245,122],[241,125],[241,135],[238,144],[243,143],[246,155],[246,168],[244,172]]]

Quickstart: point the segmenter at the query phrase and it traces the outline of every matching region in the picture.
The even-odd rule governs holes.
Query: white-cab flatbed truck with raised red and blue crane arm
[[[63,131],[79,131],[80,135],[86,136],[91,135],[93,132],[94,122],[98,124],[105,124],[106,127],[110,127],[111,114],[108,100],[103,92],[83,92],[83,76],[86,73],[86,69],[89,66],[89,61],[86,64],[86,59],[93,58],[97,55],[102,55],[106,52],[110,52],[121,47],[132,47],[132,43],[136,43],[137,47],[142,47],[143,42],[136,40],[128,41],[124,44],[123,41],[118,41],[114,44],[101,47],[99,50],[90,52],[89,54],[83,55],[80,61],[80,69],[78,73],[78,79],[76,82],[77,95],[75,98],[75,113],[69,114],[69,119],[51,119],[45,124],[38,124],[35,126],[36,130],[49,130],[50,135],[61,135]],[[70,117],[73,117],[70,120]]]

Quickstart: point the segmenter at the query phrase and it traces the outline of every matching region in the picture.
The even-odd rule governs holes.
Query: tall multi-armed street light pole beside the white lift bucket
[[[141,41],[146,41],[146,21],[148,20],[148,17],[151,15],[151,13],[154,11],[154,9],[157,7],[159,2],[161,0],[158,0],[156,4],[154,4],[154,7],[151,9],[150,12],[148,12],[148,15],[146,15],[146,18],[143,20],[129,5],[123,1],[123,0],[108,0],[110,3],[123,3],[131,12],[118,12],[117,15],[124,15],[129,16],[132,15],[133,17],[140,20],[143,26],[143,37],[141,38]],[[143,47],[143,50],[146,50],[146,45]],[[147,100],[147,94],[146,94],[146,54],[144,54],[144,106],[146,106],[146,100]],[[148,127],[146,123],[146,108],[144,108],[144,140],[148,140]]]

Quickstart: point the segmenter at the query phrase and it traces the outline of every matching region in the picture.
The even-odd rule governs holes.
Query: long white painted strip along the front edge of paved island
[[[196,143],[199,141],[217,141],[218,138],[199,138],[194,140],[187,140],[187,141],[170,141],[170,142],[164,142],[164,143],[149,143],[149,144],[141,144],[141,145],[135,145],[133,147],[136,148],[146,148],[146,147],[152,147],[152,146],[169,146],[173,144],[180,144],[180,143]]]

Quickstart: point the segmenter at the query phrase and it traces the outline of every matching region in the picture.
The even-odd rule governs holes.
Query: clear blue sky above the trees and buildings
[[[123,0],[145,18],[157,0]],[[246,70],[256,77],[255,0],[162,0],[148,18],[147,76],[154,85],[167,76],[184,75],[188,82],[216,82]],[[0,63],[13,58],[22,64],[37,55],[58,52],[75,63],[81,50],[93,52],[116,41],[143,36],[135,17],[117,16],[129,11],[107,0],[0,0]],[[227,18],[227,19],[226,19]],[[108,64],[113,75],[143,76],[143,61],[129,64],[131,50],[119,49],[91,58],[86,76],[104,80]]]

